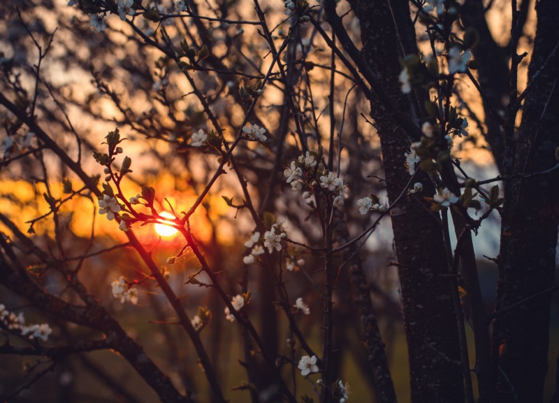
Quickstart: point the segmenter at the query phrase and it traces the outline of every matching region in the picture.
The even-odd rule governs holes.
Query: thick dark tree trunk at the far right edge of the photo
[[[559,2],[537,3],[537,36],[529,68],[532,89],[525,97],[523,117],[514,147],[514,173],[529,174],[557,164],[559,144],[559,57],[549,55],[559,43]],[[539,71],[539,77],[536,73]],[[559,222],[559,173],[508,181],[502,216],[498,309],[506,308],[553,283]],[[501,377],[499,401],[542,402],[548,368],[549,311],[546,293],[504,316],[495,325],[494,346],[499,347]],[[497,354],[497,351],[494,353]],[[514,388],[514,392],[511,390]]]

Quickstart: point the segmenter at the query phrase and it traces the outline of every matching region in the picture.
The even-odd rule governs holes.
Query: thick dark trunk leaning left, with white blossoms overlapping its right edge
[[[363,56],[399,111],[419,125],[421,111],[414,107],[412,97],[400,90],[400,44],[388,3],[355,1],[353,4],[361,22]],[[409,10],[394,8],[392,11],[398,21],[402,48],[415,43],[414,37],[413,41],[405,41],[413,33]],[[402,15],[404,11],[407,14]],[[371,110],[381,140],[386,188],[393,201],[409,181],[404,154],[409,152],[411,141],[417,139],[409,139],[375,95]],[[416,178],[423,183],[426,194],[435,193],[425,174],[420,173]],[[421,203],[424,205],[420,206]],[[463,378],[456,364],[460,361],[458,330],[440,217],[429,212],[425,201],[406,197],[392,211],[391,218],[404,304],[412,402],[463,402]]]

